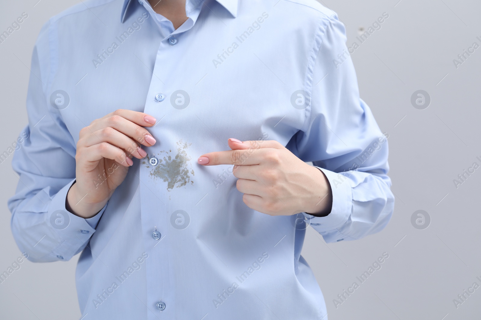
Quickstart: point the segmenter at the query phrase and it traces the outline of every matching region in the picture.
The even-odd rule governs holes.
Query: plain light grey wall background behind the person
[[[473,162],[481,164],[476,159],[481,157],[481,48],[458,69],[453,59],[473,42],[481,45],[476,39],[481,38],[481,3],[398,1],[321,1],[346,25],[348,47],[356,41],[360,27],[366,29],[383,12],[389,14],[381,29],[354,51],[352,59],[361,96],[381,130],[389,133],[396,206],[381,233],[361,240],[327,245],[308,228],[303,255],[324,293],[329,320],[480,319],[481,288],[458,308],[453,299],[474,282],[481,285],[476,279],[481,278],[481,169],[458,189],[453,179]],[[78,2],[4,0],[0,4],[0,32],[22,12],[28,13],[21,29],[0,44],[0,153],[27,123],[28,68],[40,27]],[[431,97],[424,110],[410,102],[420,89]],[[12,156],[0,164],[0,273],[21,255],[6,206],[18,182],[11,160]],[[417,210],[425,210],[431,217],[424,230],[411,224],[411,215]],[[361,284],[356,276],[367,271],[383,252],[389,258]],[[20,270],[0,284],[0,318],[79,319],[77,259],[23,262]],[[359,288],[336,308],[333,299],[353,282]]]

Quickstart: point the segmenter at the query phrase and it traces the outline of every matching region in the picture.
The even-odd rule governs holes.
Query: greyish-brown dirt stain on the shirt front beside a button
[[[175,153],[172,152],[172,149],[169,149],[169,151],[161,151],[157,156],[159,163],[152,167],[150,175],[167,182],[167,191],[174,189],[174,187],[183,187],[188,183],[194,184],[191,179],[191,176],[194,176],[194,170],[186,151],[190,145],[191,143],[181,140],[177,142]]]

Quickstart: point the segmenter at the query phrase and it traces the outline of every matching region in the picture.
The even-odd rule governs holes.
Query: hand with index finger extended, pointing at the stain
[[[279,142],[228,140],[232,150],[203,154],[206,166],[234,165],[237,190],[251,209],[270,215],[331,211],[332,191],[324,173],[292,154]]]

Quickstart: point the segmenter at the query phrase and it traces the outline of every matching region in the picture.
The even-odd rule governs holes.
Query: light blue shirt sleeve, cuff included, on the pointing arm
[[[359,98],[356,74],[337,16],[322,20],[308,71],[304,129],[292,149],[329,180],[332,209],[325,217],[304,213],[326,242],[354,240],[380,231],[392,216],[394,197],[387,176],[388,133],[382,133]],[[310,86],[310,87],[309,87]]]

